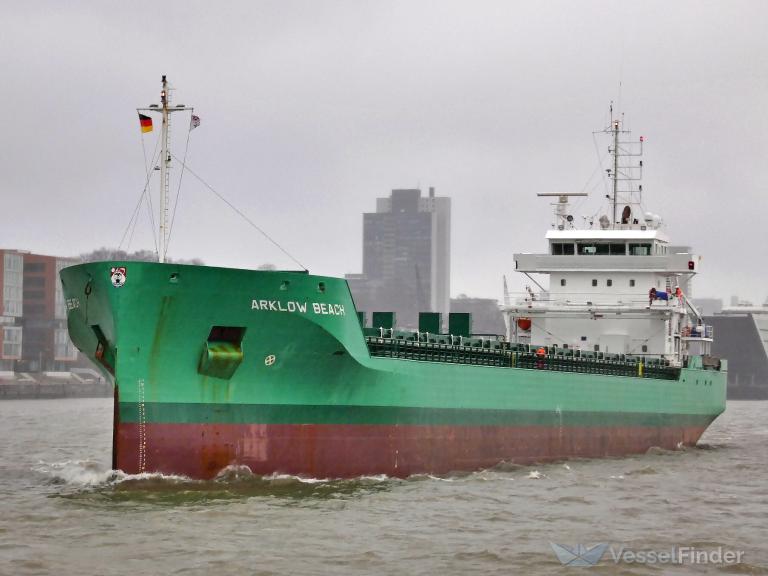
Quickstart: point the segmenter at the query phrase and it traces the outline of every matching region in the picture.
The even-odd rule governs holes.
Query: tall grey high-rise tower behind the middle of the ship
[[[392,190],[363,214],[363,272],[348,274],[355,305],[369,314],[396,313],[416,327],[419,312],[450,309],[451,199],[421,190]]]

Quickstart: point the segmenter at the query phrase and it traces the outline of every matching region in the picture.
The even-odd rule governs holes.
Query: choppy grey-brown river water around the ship
[[[768,574],[768,403],[699,448],[443,478],[109,470],[111,400],[0,402],[0,574]],[[550,542],[743,551],[563,567]]]

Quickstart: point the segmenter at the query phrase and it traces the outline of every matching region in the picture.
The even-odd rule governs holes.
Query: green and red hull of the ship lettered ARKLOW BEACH
[[[695,356],[661,378],[504,350],[372,355],[338,278],[139,262],[61,278],[73,342],[114,378],[113,466],[128,473],[402,477],[620,456],[693,445],[725,409],[725,362]]]

